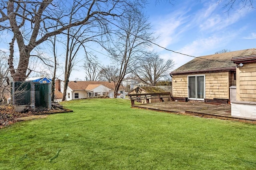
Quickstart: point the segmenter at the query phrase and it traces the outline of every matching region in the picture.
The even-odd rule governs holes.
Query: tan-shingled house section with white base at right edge
[[[256,119],[256,49],[233,57],[236,64],[236,101],[231,102],[231,115]]]

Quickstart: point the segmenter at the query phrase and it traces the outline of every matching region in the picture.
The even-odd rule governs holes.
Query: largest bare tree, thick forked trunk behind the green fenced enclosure
[[[10,40],[9,69],[14,81],[23,81],[30,74],[28,64],[31,54],[49,37],[71,27],[86,25],[92,18],[110,19],[108,16],[120,16],[130,6],[124,0],[2,0],[0,3],[1,30],[13,34]],[[70,5],[67,3],[75,4],[72,11],[75,18],[72,20],[69,20],[70,10],[67,7]],[[18,50],[14,45],[17,45]],[[13,64],[14,52],[19,53],[17,66]]]

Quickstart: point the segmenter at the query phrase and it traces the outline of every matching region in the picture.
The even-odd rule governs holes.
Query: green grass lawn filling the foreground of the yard
[[[1,170],[256,169],[256,125],[131,109],[122,99],[63,104],[74,112],[0,129]]]

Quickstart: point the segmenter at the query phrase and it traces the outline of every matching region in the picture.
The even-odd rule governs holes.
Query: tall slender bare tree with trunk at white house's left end
[[[83,2],[83,1],[81,1]],[[80,2],[80,3],[81,3]],[[89,1],[88,1],[89,2]],[[112,4],[112,3],[113,4]],[[71,24],[74,20],[77,18],[77,8],[80,7],[80,3],[73,4],[71,12],[70,12],[70,18],[69,18],[69,24]],[[122,0],[106,0],[106,1],[95,1],[93,0],[91,2],[92,4],[95,4],[94,8],[99,8],[107,5],[112,6],[107,12],[94,12],[91,14],[91,10],[93,9],[93,6],[89,6],[88,9],[88,20],[86,24],[82,24],[76,27],[69,27],[66,29],[66,32],[64,34],[66,35],[66,60],[65,60],[65,71],[64,71],[64,90],[63,90],[63,97],[62,101],[66,99],[66,90],[68,88],[68,82],[70,74],[76,65],[76,63],[80,61],[76,61],[76,56],[78,55],[78,52],[82,49],[84,53],[86,53],[86,56],[88,56],[88,51],[86,50],[85,43],[88,41],[94,41],[97,43],[102,43],[102,39],[100,38],[103,35],[108,33],[108,27],[106,20],[110,20],[110,18],[104,18],[104,16],[117,16],[116,14],[110,13],[118,6],[119,10],[124,10],[121,8],[120,3],[125,3],[125,1]],[[101,4],[104,3],[104,4]],[[90,3],[89,3],[90,4]],[[88,4],[86,4],[88,6]],[[127,6],[128,4],[126,4]],[[129,5],[130,6],[130,5]],[[80,7],[81,8],[81,7]],[[126,8],[126,7],[124,7]],[[90,15],[89,15],[90,14]],[[101,15],[101,16],[100,16]]]

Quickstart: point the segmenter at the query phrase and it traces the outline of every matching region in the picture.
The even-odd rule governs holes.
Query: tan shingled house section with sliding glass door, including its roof
[[[255,49],[197,57],[173,72],[172,96],[188,100],[228,99],[230,86],[236,85],[234,57],[247,56]]]

